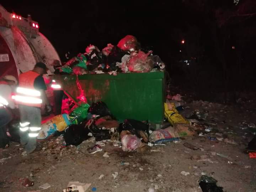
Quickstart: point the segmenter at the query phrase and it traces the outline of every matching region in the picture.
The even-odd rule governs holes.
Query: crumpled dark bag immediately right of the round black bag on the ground
[[[95,137],[96,141],[108,140],[111,139],[111,134],[108,129],[99,129],[94,122],[94,119],[90,119],[85,126]]]

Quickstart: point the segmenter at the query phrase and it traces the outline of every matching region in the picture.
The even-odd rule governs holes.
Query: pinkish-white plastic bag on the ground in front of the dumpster
[[[141,143],[141,139],[139,139],[136,135],[127,134],[126,131],[121,132],[120,138],[123,151],[134,151],[139,148]]]

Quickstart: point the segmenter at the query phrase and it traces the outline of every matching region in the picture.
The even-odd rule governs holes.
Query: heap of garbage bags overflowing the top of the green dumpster
[[[102,74],[108,73],[148,73],[162,71],[165,64],[153,51],[143,52],[134,36],[127,35],[117,46],[107,44],[102,51],[94,45],[86,48],[85,53],[79,53],[62,67],[62,74]]]

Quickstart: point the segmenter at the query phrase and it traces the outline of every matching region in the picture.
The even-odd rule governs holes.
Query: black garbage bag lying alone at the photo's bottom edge
[[[202,189],[202,192],[223,192],[223,187],[218,187],[216,185],[218,181],[212,177],[203,175],[199,182],[199,186]]]

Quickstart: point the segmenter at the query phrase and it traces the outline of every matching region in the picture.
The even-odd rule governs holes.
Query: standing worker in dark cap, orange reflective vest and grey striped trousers
[[[32,71],[19,76],[19,86],[14,99],[20,111],[21,144],[25,145],[27,153],[32,153],[37,147],[37,136],[41,129],[41,106],[46,105],[47,112],[52,111],[45,90],[46,85],[42,77],[46,73],[44,63],[36,63]]]

